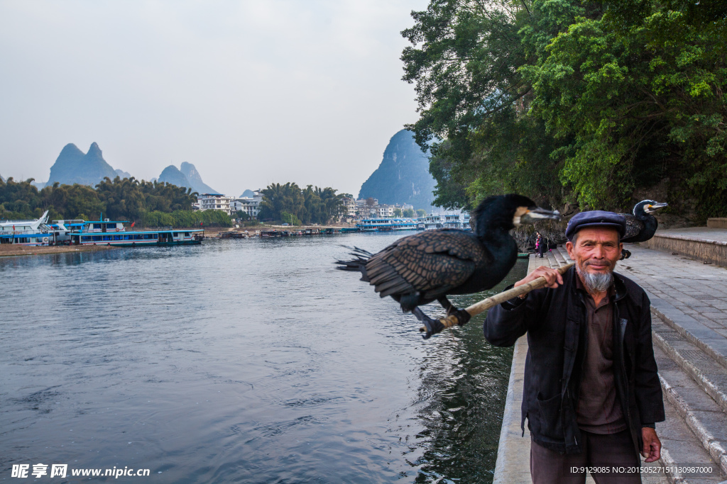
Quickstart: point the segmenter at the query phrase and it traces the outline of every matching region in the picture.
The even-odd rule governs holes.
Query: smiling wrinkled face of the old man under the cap
[[[623,244],[619,232],[606,227],[585,227],[578,231],[576,243],[566,242],[568,255],[581,271],[608,274],[621,257]]]

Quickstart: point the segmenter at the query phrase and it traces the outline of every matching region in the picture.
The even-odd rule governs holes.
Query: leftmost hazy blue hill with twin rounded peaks
[[[102,181],[106,176],[116,178],[116,171],[103,159],[98,144],[92,143],[87,153],[82,152],[75,144],[69,143],[60,152],[50,168],[47,185],[56,181],[60,184],[91,185]]]

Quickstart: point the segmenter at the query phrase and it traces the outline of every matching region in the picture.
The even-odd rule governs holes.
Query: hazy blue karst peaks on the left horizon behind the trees
[[[46,185],[52,185],[56,181],[60,184],[72,185],[74,183],[81,185],[95,186],[105,177],[114,179],[120,176],[122,179],[131,178],[131,173],[121,169],[113,169],[106,160],[103,159],[103,152],[96,143],[92,143],[87,153],[82,152],[75,144],[69,143],[60,151],[60,155],[50,168],[50,177],[46,183],[33,183],[39,189]],[[186,186],[191,188],[193,192],[198,193],[217,193],[212,187],[202,181],[197,168],[192,163],[182,163],[180,169],[174,165],[164,168],[158,181],[166,181],[166,183],[177,186]]]

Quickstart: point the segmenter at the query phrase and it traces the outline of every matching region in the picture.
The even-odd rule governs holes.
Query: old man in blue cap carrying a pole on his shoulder
[[[659,459],[664,403],[650,303],[614,273],[624,231],[616,213],[577,214],[566,229],[575,267],[563,276],[537,268],[515,286],[543,276],[547,287],[492,308],[483,325],[498,346],[527,334],[521,425],[527,419],[533,483],[585,483],[599,467],[608,472],[591,472],[597,483],[640,483],[639,454]]]

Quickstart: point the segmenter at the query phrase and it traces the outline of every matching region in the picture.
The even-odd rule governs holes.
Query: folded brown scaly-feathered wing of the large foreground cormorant
[[[381,297],[421,292],[434,299],[464,283],[492,257],[472,234],[427,230],[403,237],[366,263],[366,275]]]

